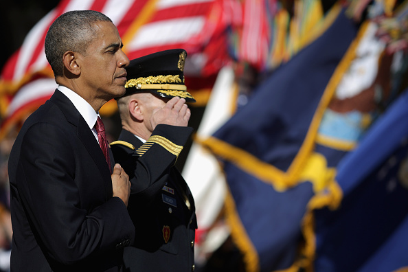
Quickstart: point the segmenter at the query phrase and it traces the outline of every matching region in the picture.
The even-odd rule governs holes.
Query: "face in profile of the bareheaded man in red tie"
[[[113,23],[95,24],[97,38],[82,58],[81,77],[93,99],[109,101],[124,95],[129,59],[122,52],[122,39]]]

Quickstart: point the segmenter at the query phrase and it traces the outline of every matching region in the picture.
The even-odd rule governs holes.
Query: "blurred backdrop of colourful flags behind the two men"
[[[408,271],[407,0],[3,2],[0,271],[8,154],[56,89],[44,39],[68,10],[109,16],[130,59],[188,52],[196,271]]]

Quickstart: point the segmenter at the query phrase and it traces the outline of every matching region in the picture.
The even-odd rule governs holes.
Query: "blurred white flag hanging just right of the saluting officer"
[[[194,137],[183,177],[196,203],[197,225],[194,254],[196,264],[203,264],[229,236],[229,228],[218,220],[223,210],[226,183],[218,162],[203,146],[201,139],[209,137],[231,117],[231,103],[236,90],[232,67],[223,67],[218,73],[211,96],[205,107],[199,129]]]

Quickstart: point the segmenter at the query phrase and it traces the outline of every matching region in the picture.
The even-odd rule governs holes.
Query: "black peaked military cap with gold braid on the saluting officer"
[[[184,49],[170,49],[131,60],[126,67],[128,81],[125,95],[150,92],[162,98],[179,96],[196,102],[184,84]]]

